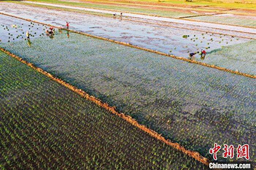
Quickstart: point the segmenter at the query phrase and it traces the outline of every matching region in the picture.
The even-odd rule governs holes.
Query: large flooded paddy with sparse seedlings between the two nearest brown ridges
[[[254,155],[253,78],[73,33],[1,46],[205,157],[215,142]]]

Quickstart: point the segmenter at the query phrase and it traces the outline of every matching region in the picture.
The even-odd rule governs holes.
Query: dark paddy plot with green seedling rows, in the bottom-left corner
[[[3,169],[206,168],[9,56],[0,60]]]

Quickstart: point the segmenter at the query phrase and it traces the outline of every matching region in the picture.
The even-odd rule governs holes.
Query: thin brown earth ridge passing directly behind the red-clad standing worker
[[[1,13],[1,12],[0,12],[0,14],[7,15],[7,16],[11,16],[11,17],[14,17],[14,18],[23,19],[23,20],[26,20],[26,21],[29,21],[29,22],[34,22],[34,23],[43,24],[43,25],[47,25],[47,26],[51,26],[51,27],[58,28],[57,26],[54,26],[54,25],[51,25],[51,24],[42,23],[42,22],[38,22],[38,21],[34,21],[34,20],[31,20],[31,19],[21,18],[21,17],[18,17],[18,16],[13,16],[13,15]],[[63,28],[63,30],[67,30],[67,29],[66,29],[66,28]],[[86,35],[86,36],[90,36],[90,37],[97,38],[97,39],[106,40],[106,41],[113,42],[113,43],[117,43],[117,44],[124,45],[124,46],[133,47],[133,48],[140,49],[140,50],[144,50],[144,51],[149,51],[149,52],[151,52],[151,53],[156,53],[156,54],[160,54],[160,55],[165,55],[166,57],[172,57],[172,58],[180,59],[180,60],[183,60],[183,61],[187,61],[187,62],[189,62],[189,63],[195,63],[195,64],[203,65],[203,66],[206,66],[206,67],[211,67],[211,68],[214,68],[214,69],[218,69],[218,70],[222,70],[222,71],[225,71],[225,72],[234,73],[234,74],[241,75],[241,76],[245,76],[245,77],[256,78],[256,75],[241,73],[241,72],[238,72],[238,71],[226,69],[226,68],[224,68],[224,67],[219,67],[219,66],[215,66],[215,65],[210,65],[210,64],[202,63],[202,62],[199,62],[199,61],[194,61],[194,60],[187,59],[187,58],[183,58],[183,57],[177,57],[177,56],[175,56],[175,55],[170,55],[170,54],[162,53],[162,52],[159,52],[159,51],[147,49],[147,48],[144,48],[144,47],[139,47],[139,46],[131,45],[131,44],[125,43],[125,42],[120,42],[120,41],[116,41],[116,40],[112,40],[112,39],[108,39],[108,38],[103,38],[103,37],[100,37],[100,36],[91,35],[91,34],[87,34],[87,33],[84,33],[84,32],[75,31],[75,30],[67,30],[67,31],[75,32],[75,33],[77,33],[77,34]]]

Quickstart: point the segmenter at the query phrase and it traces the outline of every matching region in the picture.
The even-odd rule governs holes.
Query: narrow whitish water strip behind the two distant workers
[[[23,1],[23,2],[31,3],[31,4],[49,5],[49,6],[53,6],[53,7],[79,9],[79,10],[83,10],[83,11],[93,11],[93,12],[110,13],[110,14],[116,13],[117,15],[120,15],[120,12],[118,12],[118,11],[109,11],[109,10],[84,8],[84,7],[74,7],[74,6],[69,6],[69,5],[40,3],[40,2],[32,2],[32,1]],[[211,28],[218,28],[218,29],[223,29],[223,30],[232,30],[232,31],[240,31],[240,32],[248,32],[248,33],[256,34],[256,28],[230,26],[230,25],[225,25],[225,24],[206,23],[206,22],[175,19],[175,18],[157,17],[157,16],[149,16],[149,15],[142,15],[142,14],[135,14],[135,13],[123,13],[123,15],[129,16],[129,17],[135,17],[135,18],[152,19],[152,20],[158,20],[158,21],[174,22],[174,23],[180,23],[180,24],[189,24],[189,25],[193,25],[193,26],[211,27]]]

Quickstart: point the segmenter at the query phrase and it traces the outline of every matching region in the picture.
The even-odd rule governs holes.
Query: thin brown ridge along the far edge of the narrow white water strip
[[[29,2],[26,2],[29,0],[25,0],[23,1],[23,3],[27,3],[29,4]],[[37,2],[37,1],[31,1],[31,2]],[[38,2],[38,3],[43,3],[43,2]],[[37,4],[37,3],[31,3],[31,4]],[[46,3],[47,4],[47,3]],[[55,3],[48,3],[48,4],[55,4]],[[55,5],[62,5],[62,4],[55,4]],[[49,5],[50,6],[50,5]],[[81,7],[81,6],[75,6],[75,5],[65,5],[65,6],[71,6],[71,7]],[[91,7],[81,7],[81,8],[90,8],[90,9],[99,9],[99,10],[105,10],[105,11],[112,11],[112,12],[123,12],[124,11],[118,11],[118,10],[111,10],[111,9],[100,9],[100,8],[91,8]],[[129,7],[127,7],[129,8]],[[155,10],[155,9],[152,9]],[[139,14],[139,15],[147,15],[147,16],[157,16],[157,15],[150,15],[150,14],[143,14],[143,13],[136,13],[136,12],[126,12],[126,13],[132,13],[132,14]],[[181,12],[184,13],[184,12]],[[163,18],[172,18],[172,19],[181,19],[181,20],[188,20],[188,21],[197,21],[197,22],[204,22],[204,23],[213,23],[213,24],[222,24],[222,23],[215,23],[215,22],[205,22],[205,21],[200,21],[200,20],[193,20],[193,19],[184,19],[184,18],[174,18],[174,17],[167,17],[167,16],[157,16],[157,17],[163,17]],[[193,17],[193,16],[191,16]],[[175,22],[173,22],[175,23]],[[222,24],[222,25],[226,25],[226,26],[236,26],[236,27],[246,27],[246,28],[256,28],[256,27],[250,27],[250,26],[238,26],[238,25],[233,25],[233,24]],[[212,28],[212,27],[209,27]],[[231,31],[231,30],[230,30]],[[233,31],[233,30],[232,30]],[[243,32],[243,31],[237,31],[237,32]],[[249,33],[249,32],[245,32],[245,33]],[[251,33],[253,34],[253,33]]]

